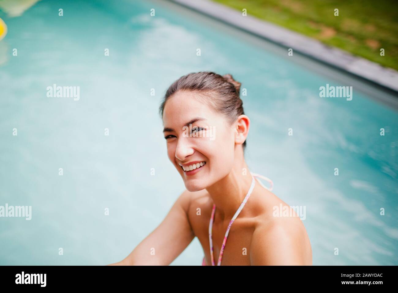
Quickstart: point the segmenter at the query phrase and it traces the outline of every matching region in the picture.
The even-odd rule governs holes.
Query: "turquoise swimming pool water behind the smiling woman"
[[[31,220],[0,218],[0,264],[125,258],[184,190],[166,155],[162,95],[207,70],[247,89],[246,160],[283,201],[306,206],[313,264],[398,264],[398,112],[377,100],[388,94],[174,4],[109,2],[0,12],[0,205],[32,206]],[[53,84],[79,86],[79,100],[48,97]],[[326,84],[352,86],[353,99],[321,98]],[[172,265],[202,258],[195,238]]]

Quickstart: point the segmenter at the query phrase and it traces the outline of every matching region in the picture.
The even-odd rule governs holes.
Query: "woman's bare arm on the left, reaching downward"
[[[171,264],[195,237],[187,217],[189,201],[190,194],[184,191],[162,223],[142,240],[129,256],[109,265]]]

